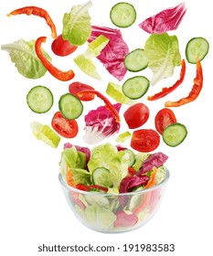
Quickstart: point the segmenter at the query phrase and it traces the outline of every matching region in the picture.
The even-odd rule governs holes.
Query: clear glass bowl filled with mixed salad
[[[123,232],[143,226],[164,195],[163,153],[133,153],[110,143],[93,149],[65,144],[59,181],[75,216],[90,229]]]

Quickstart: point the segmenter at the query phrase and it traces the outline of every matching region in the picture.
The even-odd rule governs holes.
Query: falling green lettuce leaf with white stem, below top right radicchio
[[[171,77],[176,66],[180,65],[181,55],[176,36],[164,34],[151,35],[144,45],[148,67],[153,71],[151,84]]]

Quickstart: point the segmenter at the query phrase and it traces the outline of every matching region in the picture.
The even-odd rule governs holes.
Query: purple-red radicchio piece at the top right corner
[[[176,30],[186,14],[186,5],[181,3],[176,7],[168,8],[155,16],[146,18],[139,27],[149,34],[162,34],[169,30]]]

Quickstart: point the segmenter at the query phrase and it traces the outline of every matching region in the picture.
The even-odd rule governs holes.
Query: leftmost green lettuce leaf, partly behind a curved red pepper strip
[[[39,79],[45,75],[47,69],[43,66],[35,52],[35,40],[25,41],[19,39],[11,44],[1,47],[9,53],[10,59],[15,63],[16,69],[27,79]],[[44,52],[46,58],[51,61],[48,53]]]

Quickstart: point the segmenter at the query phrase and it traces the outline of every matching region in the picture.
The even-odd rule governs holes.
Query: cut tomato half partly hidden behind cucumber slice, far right
[[[163,134],[165,127],[169,124],[176,123],[176,115],[170,109],[162,109],[155,115],[154,124],[158,133]]]

